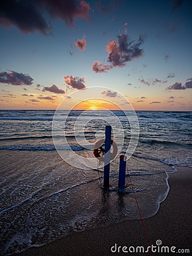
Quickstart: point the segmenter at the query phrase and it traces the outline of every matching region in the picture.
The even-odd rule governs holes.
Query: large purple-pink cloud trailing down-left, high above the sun
[[[144,50],[140,48],[141,44],[144,43],[144,36],[139,36],[139,39],[135,42],[126,34],[119,35],[118,43],[115,40],[110,40],[106,46],[108,52],[107,61],[111,63],[111,65],[105,65],[99,61],[95,61],[92,65],[94,72],[101,73],[98,72],[99,69],[97,68],[97,64],[101,67],[102,72],[106,72],[112,67],[124,67],[128,61],[141,57],[144,54]]]

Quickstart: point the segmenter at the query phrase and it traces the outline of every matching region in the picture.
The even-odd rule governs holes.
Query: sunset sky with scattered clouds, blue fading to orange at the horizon
[[[135,110],[192,111],[191,13],[191,0],[1,1],[0,109],[70,109],[99,86]]]

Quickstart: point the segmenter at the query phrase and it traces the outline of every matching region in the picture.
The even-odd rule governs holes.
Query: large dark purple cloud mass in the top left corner
[[[75,19],[89,18],[89,10],[89,3],[77,0],[1,1],[0,26],[16,26],[26,34],[39,31],[48,35],[51,26],[44,13],[48,13],[52,19],[61,19],[69,27],[73,27]]]

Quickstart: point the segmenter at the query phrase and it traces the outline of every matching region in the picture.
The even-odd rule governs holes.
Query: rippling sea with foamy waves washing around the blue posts
[[[128,173],[143,218],[157,213],[169,196],[169,175],[177,167],[192,168],[192,112],[136,111],[136,131],[131,116],[104,110],[57,115],[0,110],[1,255],[139,219]],[[103,188],[104,164],[93,155],[106,125],[118,145],[108,189]],[[135,144],[129,154],[131,136]],[[127,155],[123,191],[118,189],[120,154]]]

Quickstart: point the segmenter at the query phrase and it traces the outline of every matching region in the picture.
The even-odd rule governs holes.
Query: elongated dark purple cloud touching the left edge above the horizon
[[[0,72],[0,83],[11,85],[31,85],[34,79],[29,75],[15,71]]]

